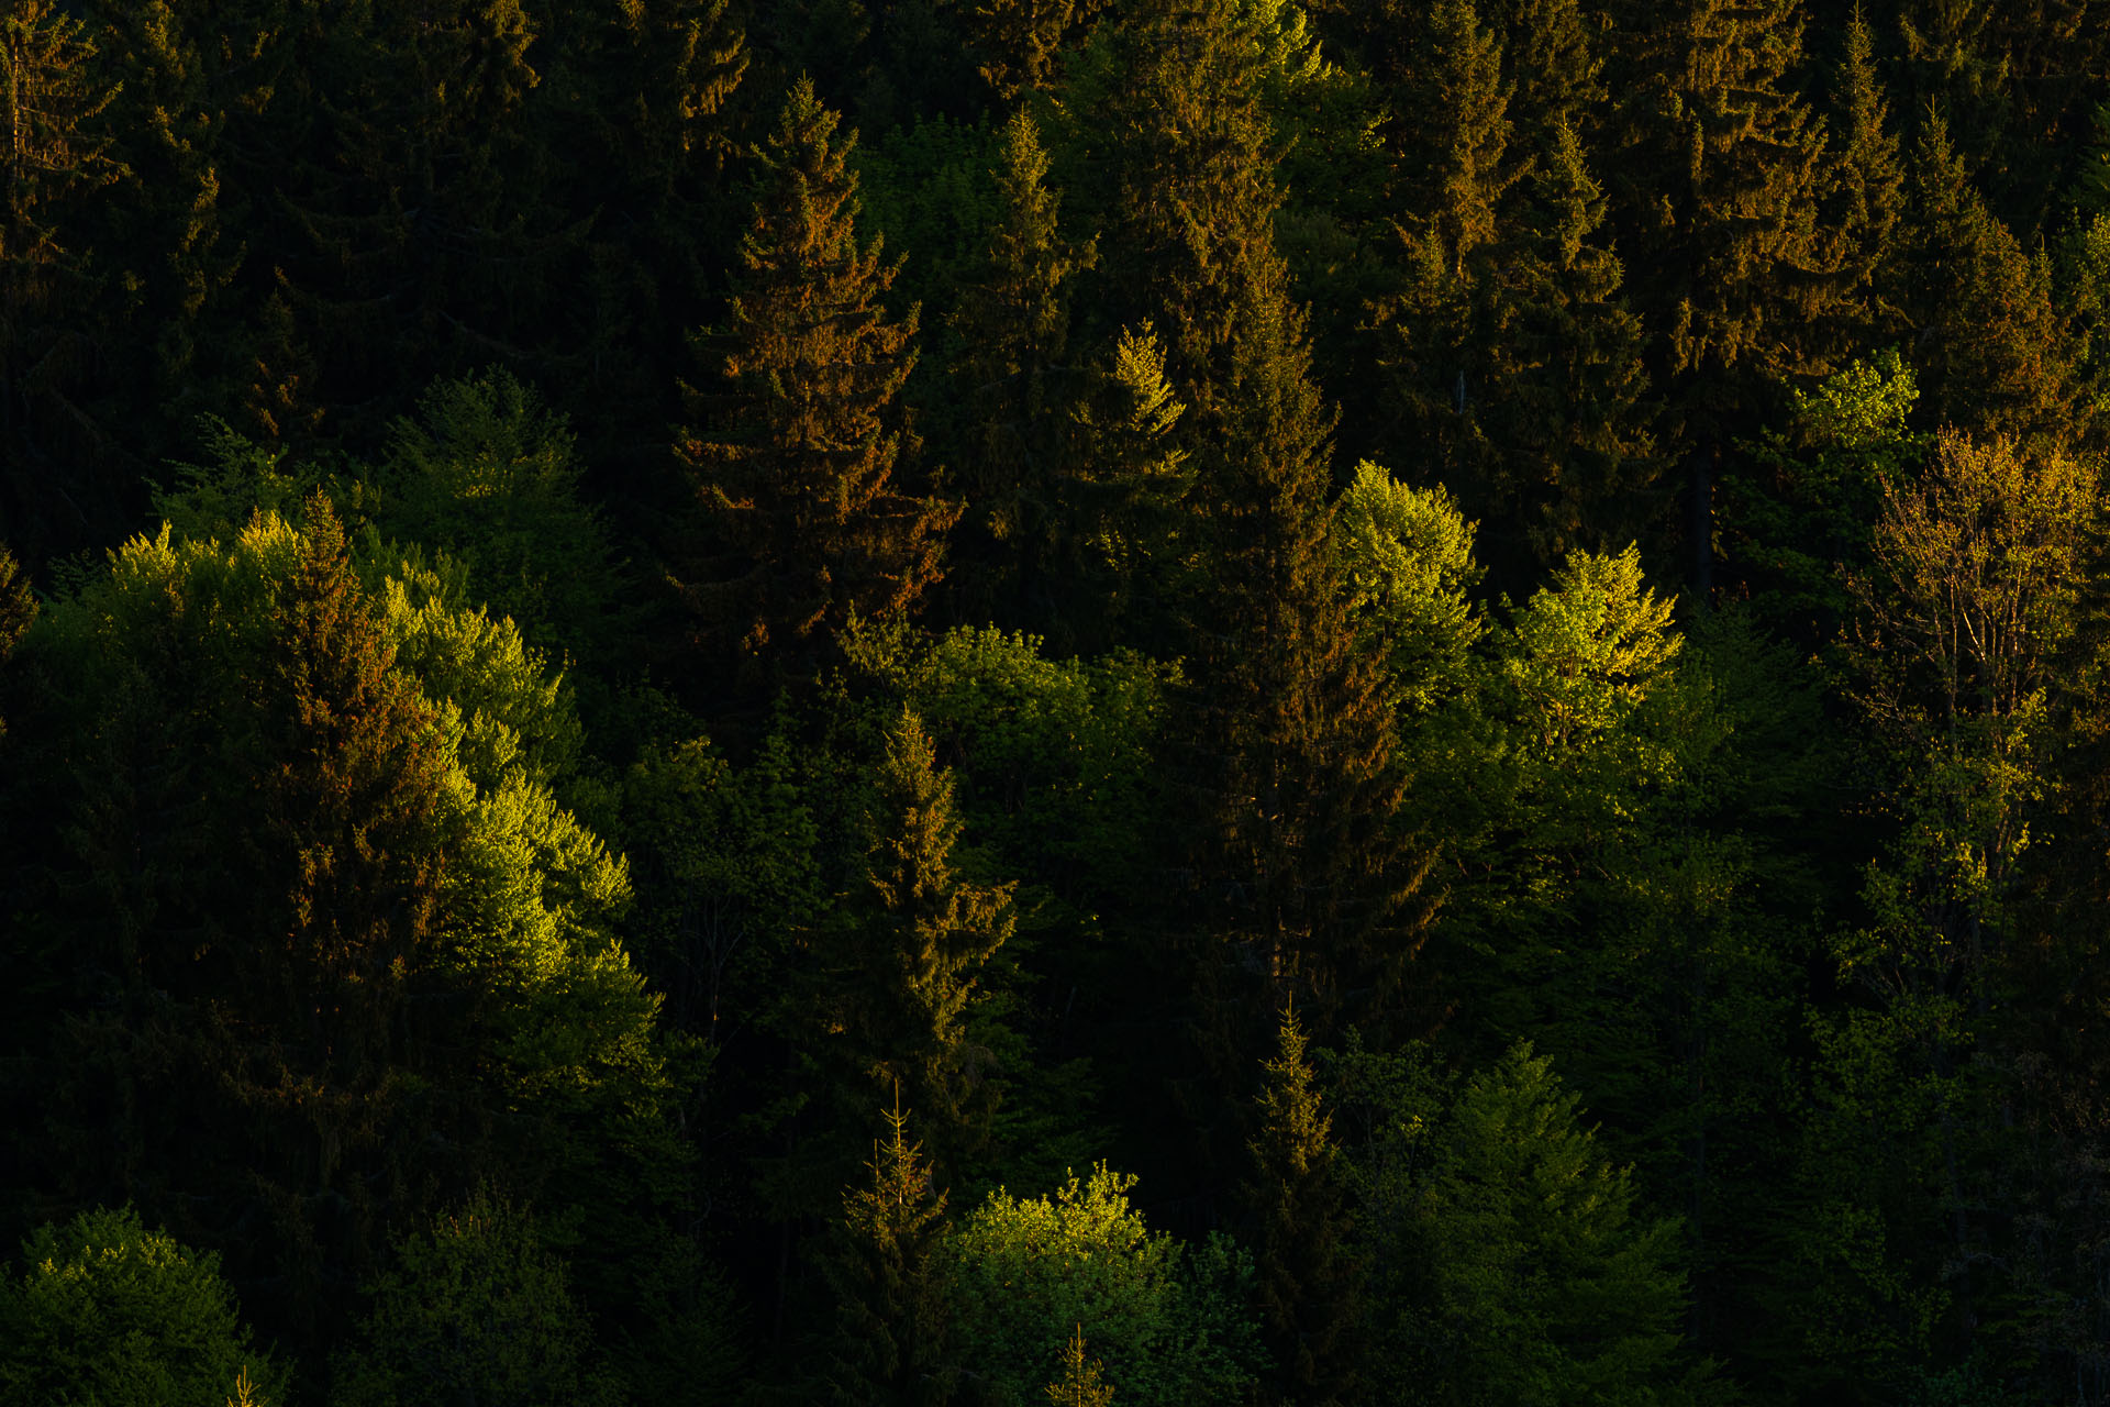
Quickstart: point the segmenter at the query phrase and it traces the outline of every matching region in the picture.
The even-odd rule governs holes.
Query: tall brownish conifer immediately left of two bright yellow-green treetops
[[[1228,424],[1198,464],[1217,582],[1196,633],[1209,745],[1222,747],[1211,884],[1277,998],[1321,1023],[1382,1023],[1399,1000],[1426,861],[1397,829],[1403,776],[1380,660],[1361,650],[1329,548],[1334,416],[1308,375],[1281,266],[1241,308]]]

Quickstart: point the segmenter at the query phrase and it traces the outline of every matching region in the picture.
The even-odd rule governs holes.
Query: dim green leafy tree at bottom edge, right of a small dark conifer
[[[1365,1253],[1395,1276],[1422,1266],[1374,1302],[1382,1390],[1428,1403],[1705,1401],[1707,1373],[1677,1335],[1677,1226],[1639,1215],[1631,1171],[1576,1126],[1578,1099],[1545,1057],[1517,1046],[1450,1099],[1412,1065],[1357,1057],[1348,1069],[1378,1114],[1350,1143]]]

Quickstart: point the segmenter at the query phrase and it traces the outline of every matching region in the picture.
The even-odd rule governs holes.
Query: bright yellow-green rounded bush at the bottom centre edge
[[[1106,1354],[1123,1403],[1213,1403],[1258,1358],[1251,1257],[1222,1236],[1186,1249],[1129,1207],[1104,1164],[1053,1196],[992,1192],[947,1240],[956,1352],[990,1403],[1042,1396],[1072,1333]]]

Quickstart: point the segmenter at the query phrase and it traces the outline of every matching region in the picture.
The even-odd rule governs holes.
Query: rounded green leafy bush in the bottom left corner
[[[0,1403],[222,1407],[236,1382],[257,1407],[287,1401],[287,1369],[243,1325],[217,1255],[129,1207],[40,1226],[21,1253],[23,1276],[0,1278]]]

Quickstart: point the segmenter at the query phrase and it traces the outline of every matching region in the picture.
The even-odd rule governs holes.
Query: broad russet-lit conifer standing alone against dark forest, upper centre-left
[[[707,422],[675,445],[707,540],[684,593],[701,635],[749,658],[810,660],[852,616],[914,610],[960,515],[897,479],[918,447],[895,405],[916,365],[916,312],[886,316],[901,266],[857,238],[855,135],[833,141],[836,124],[800,80],[757,152],[745,276],[715,340],[726,390],[690,394]]]

